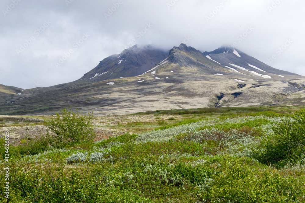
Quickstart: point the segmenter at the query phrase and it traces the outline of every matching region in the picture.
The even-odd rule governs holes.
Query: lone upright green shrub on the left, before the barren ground
[[[65,147],[66,145],[75,145],[78,143],[92,142],[95,138],[95,131],[93,125],[91,124],[91,119],[93,117],[92,113],[88,115],[83,115],[82,112],[73,112],[70,110],[63,109],[59,113],[56,113],[56,118],[47,121],[45,123],[52,132],[56,134],[53,136],[55,142],[53,145],[55,147]],[[62,118],[61,118],[62,117]]]

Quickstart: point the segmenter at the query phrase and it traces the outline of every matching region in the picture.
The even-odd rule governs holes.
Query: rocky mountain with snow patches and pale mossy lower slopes
[[[264,65],[230,47],[202,53],[181,44],[166,56],[150,47],[132,47],[104,59],[77,81],[13,95],[2,103],[0,114],[52,114],[71,105],[94,110],[95,115],[281,102],[304,105],[293,96],[303,98],[304,87],[303,76]]]

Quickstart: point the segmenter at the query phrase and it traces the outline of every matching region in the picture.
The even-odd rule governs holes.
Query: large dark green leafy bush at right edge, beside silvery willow
[[[305,163],[305,110],[285,118],[273,128],[273,134],[265,137],[254,151],[261,163],[279,167],[287,163]]]

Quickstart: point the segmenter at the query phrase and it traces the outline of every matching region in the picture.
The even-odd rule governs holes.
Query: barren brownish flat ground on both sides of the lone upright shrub
[[[18,145],[27,139],[35,139],[52,133],[47,126],[43,124],[44,118],[52,116],[4,116],[0,115],[0,131],[9,131],[10,143]],[[108,115],[103,117],[94,117],[96,138],[95,141],[116,137],[126,133],[140,133],[147,129],[153,129],[157,126],[150,123],[167,120],[170,117],[175,119],[181,116],[173,115]],[[157,119],[156,119],[157,118]],[[156,124],[158,125],[158,124]]]

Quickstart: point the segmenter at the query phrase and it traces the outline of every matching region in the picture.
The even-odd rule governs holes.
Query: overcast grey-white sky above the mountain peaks
[[[235,45],[305,75],[303,0],[2,0],[0,84],[72,82],[135,44]],[[139,33],[140,32],[140,33]]]

